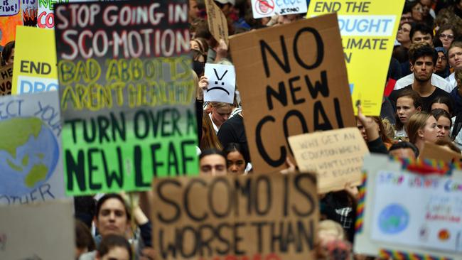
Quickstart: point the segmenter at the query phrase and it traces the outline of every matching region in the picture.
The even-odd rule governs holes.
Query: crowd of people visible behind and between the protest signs
[[[227,17],[230,35],[280,26],[306,13],[252,18],[247,0],[214,0]],[[211,35],[205,5],[189,1],[190,48],[197,83],[198,153],[201,175],[252,174],[244,127],[245,104],[239,86],[235,102],[204,102],[205,63],[232,65],[223,40]],[[14,42],[1,52],[1,65],[14,63]],[[371,68],[372,69],[372,68]],[[365,71],[367,73],[367,71]],[[462,1],[406,1],[399,22],[380,117],[365,117],[358,105],[356,124],[370,152],[418,158],[426,142],[461,153],[462,147]],[[383,86],[377,90],[385,90]],[[244,108],[244,109],[243,109]],[[287,169],[296,170],[287,158]],[[146,193],[127,197],[75,197],[76,259],[154,259]],[[319,195],[318,259],[375,259],[353,254],[358,188]],[[92,231],[92,229],[94,229]],[[95,231],[96,230],[96,231]]]

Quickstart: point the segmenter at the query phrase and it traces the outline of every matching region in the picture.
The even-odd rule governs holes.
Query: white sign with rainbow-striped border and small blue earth
[[[460,171],[419,175],[377,155],[365,157],[364,170],[355,253],[381,259],[462,259]]]

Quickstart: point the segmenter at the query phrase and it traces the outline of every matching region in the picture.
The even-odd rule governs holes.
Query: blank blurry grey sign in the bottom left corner
[[[72,202],[0,207],[0,259],[75,259]]]

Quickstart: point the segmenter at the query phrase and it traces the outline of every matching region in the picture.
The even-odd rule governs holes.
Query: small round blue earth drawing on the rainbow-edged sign
[[[379,215],[379,227],[385,234],[397,234],[409,224],[409,213],[398,204],[390,204]]]

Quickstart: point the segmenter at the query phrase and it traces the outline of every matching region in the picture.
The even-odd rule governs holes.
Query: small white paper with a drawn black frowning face
[[[204,101],[234,103],[235,66],[205,63],[204,75],[208,78],[208,88],[204,92]]]

